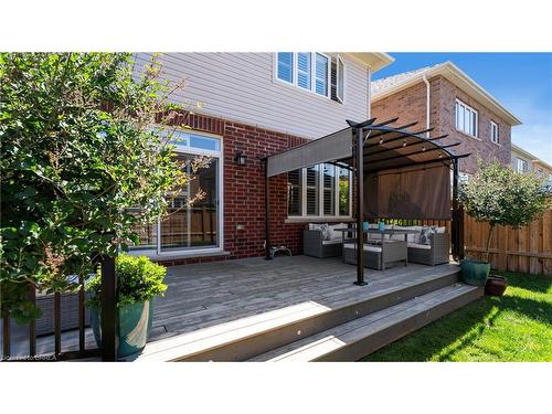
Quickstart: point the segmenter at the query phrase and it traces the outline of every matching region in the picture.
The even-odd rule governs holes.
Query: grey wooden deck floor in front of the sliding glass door
[[[155,301],[150,341],[288,307],[301,311],[336,309],[386,291],[418,286],[457,272],[457,266],[399,265],[384,272],[367,269],[368,286],[353,285],[355,267],[341,258],[279,256],[169,267],[169,288]],[[316,304],[305,308],[305,304]],[[77,332],[63,333],[62,350],[77,348]],[[95,347],[87,329],[88,347]],[[25,354],[26,341],[12,343],[12,354]],[[38,340],[38,353],[53,350],[53,338]]]

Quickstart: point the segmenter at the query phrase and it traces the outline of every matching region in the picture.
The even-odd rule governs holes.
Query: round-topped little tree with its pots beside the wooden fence
[[[487,294],[501,296],[505,293],[507,279],[498,275],[489,277],[492,232],[497,225],[510,225],[514,229],[528,225],[548,208],[549,195],[545,181],[532,173],[513,171],[499,161],[487,164],[479,162],[477,173],[460,184],[459,201],[468,215],[489,223],[489,232],[484,259],[460,262],[465,283],[486,285]]]

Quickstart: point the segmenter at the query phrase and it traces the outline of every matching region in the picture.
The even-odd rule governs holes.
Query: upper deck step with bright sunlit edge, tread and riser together
[[[150,342],[136,360],[244,361],[439,290],[457,280],[458,268],[450,267],[438,277],[433,275],[403,283],[385,291],[372,293],[370,286],[365,286],[362,287],[367,289],[364,297],[354,300],[343,297],[333,309],[305,301]]]

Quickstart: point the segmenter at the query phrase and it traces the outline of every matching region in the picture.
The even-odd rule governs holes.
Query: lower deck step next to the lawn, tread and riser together
[[[455,283],[250,361],[357,361],[481,296],[482,288]]]

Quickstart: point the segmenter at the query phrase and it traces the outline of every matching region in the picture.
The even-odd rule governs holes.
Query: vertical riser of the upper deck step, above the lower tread
[[[452,273],[439,278],[424,282],[404,289],[375,298],[358,301],[325,314],[308,317],[238,341],[205,350],[201,353],[185,355],[173,361],[244,361],[255,355],[284,347],[357,318],[376,312],[400,302],[449,286],[458,280],[459,273]],[[300,335],[297,332],[300,331]]]

